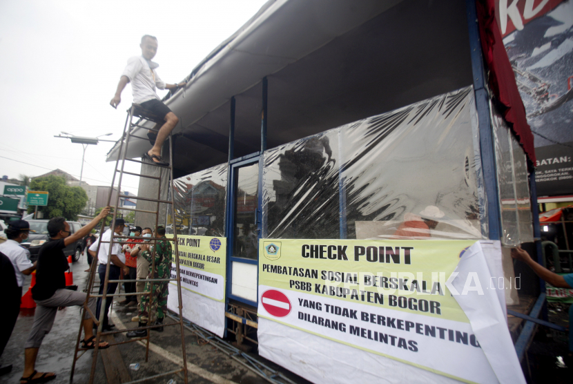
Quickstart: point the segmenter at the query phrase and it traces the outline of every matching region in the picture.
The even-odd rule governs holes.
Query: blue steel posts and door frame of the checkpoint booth
[[[480,34],[478,27],[478,18],[476,12],[476,0],[466,0],[467,6],[467,23],[469,30],[469,48],[472,60],[472,74],[474,83],[474,92],[476,98],[476,110],[478,113],[478,131],[480,135],[480,155],[482,161],[483,178],[484,178],[484,188],[485,195],[487,197],[487,218],[488,218],[488,228],[489,228],[489,239],[500,240],[502,235],[501,228],[501,211],[499,207],[499,196],[498,196],[498,186],[497,186],[497,171],[495,162],[495,148],[494,148],[494,137],[492,130],[492,122],[490,119],[490,109],[489,109],[489,93],[486,84],[486,68],[483,62],[482,50],[480,45]],[[262,111],[261,111],[261,150],[260,152],[252,153],[251,155],[244,156],[238,159],[233,159],[234,153],[234,133],[235,133],[235,98],[231,98],[231,122],[229,126],[229,187],[227,188],[227,204],[226,204],[226,225],[225,231],[227,236],[227,255],[229,256],[229,263],[227,265],[227,298],[226,301],[229,303],[229,298],[237,300],[241,303],[252,305],[256,307],[258,303],[252,302],[250,300],[245,300],[244,298],[239,298],[231,294],[231,282],[232,282],[232,263],[235,262],[245,262],[247,264],[258,265],[258,260],[248,260],[244,258],[235,258],[231,255],[234,233],[233,233],[233,215],[234,215],[234,198],[236,193],[236,170],[241,166],[246,166],[249,164],[259,163],[259,195],[258,195],[258,209],[256,212],[257,224],[258,224],[258,238],[261,238],[264,230],[262,228],[262,177],[263,177],[263,156],[262,154],[266,150],[266,135],[267,135],[267,98],[268,98],[268,81],[266,77],[262,79]],[[530,169],[532,169],[532,164],[528,164]],[[342,172],[342,169],[340,170]],[[530,176],[530,191],[531,191],[531,202],[532,202],[532,215],[534,218],[534,237],[536,240],[536,250],[538,254],[538,262],[541,262],[541,242],[540,230],[539,230],[539,220],[538,220],[538,208],[537,208],[537,196],[535,188],[535,177],[534,173]],[[342,175],[339,177],[339,195],[340,195],[340,238],[347,238],[347,220],[346,220],[346,193],[344,189],[344,180]],[[257,276],[258,277],[258,276]],[[540,314],[544,314],[543,317],[546,320],[546,311],[543,310],[545,307],[545,283],[541,280],[541,294],[536,300],[534,305],[534,310],[531,316],[537,318]],[[536,324],[531,320],[526,320],[526,325],[523,327],[521,335],[516,343],[516,352],[520,361],[525,356],[525,351],[533,337],[534,331],[536,329]]]

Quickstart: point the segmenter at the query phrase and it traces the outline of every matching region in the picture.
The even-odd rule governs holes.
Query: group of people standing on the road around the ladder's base
[[[71,306],[83,306],[84,318],[82,325],[84,329],[84,339],[81,340],[81,347],[86,349],[95,348],[95,333],[97,332],[95,320],[99,320],[103,310],[103,331],[110,331],[115,327],[108,320],[108,312],[113,301],[113,296],[108,296],[105,305],[102,305],[101,297],[87,297],[84,292],[76,291],[77,286],[66,285],[65,272],[70,266],[64,248],[68,244],[77,242],[84,238],[84,247],[87,249],[88,264],[99,263],[97,273],[101,284],[99,285],[99,295],[103,294],[106,285],[104,281],[106,275],[108,280],[124,279],[124,289],[126,298],[119,302],[119,305],[137,305],[138,316],[132,320],[139,323],[139,327],[148,325],[148,322],[155,320],[156,327],[152,330],[162,332],[163,320],[167,311],[168,281],[150,283],[150,266],[153,265],[155,256],[155,274],[153,278],[169,278],[171,271],[171,259],[173,250],[171,242],[161,240],[165,238],[165,228],[157,227],[155,231],[150,228],[132,227],[130,236],[123,235],[126,223],[118,218],[104,232],[101,238],[97,238],[93,232],[96,225],[104,220],[110,209],[106,207],[89,224],[86,224],[79,231],[71,233],[70,225],[64,218],[52,218],[48,222],[48,233],[50,240],[42,244],[36,262],[30,262],[30,252],[25,247],[21,247],[30,233],[30,224],[26,220],[15,220],[8,224],[6,236],[8,240],[0,244],[0,266],[1,266],[1,288],[6,293],[4,296],[3,327],[0,327],[0,356],[18,318],[22,287],[25,276],[35,271],[36,283],[32,287],[32,298],[37,305],[32,328],[28,339],[24,344],[24,371],[20,383],[45,383],[56,378],[54,372],[37,372],[35,369],[36,359],[43,338],[50,332],[54,324],[58,309]],[[110,240],[114,236],[113,244]],[[151,238],[157,240],[152,241]],[[150,238],[150,239],[146,239]],[[101,243],[101,244],[100,244]],[[111,244],[111,249],[110,249]],[[154,248],[155,247],[155,251]],[[108,270],[108,256],[110,258]],[[90,271],[87,269],[86,271]],[[135,281],[137,280],[137,282]],[[108,282],[107,294],[113,295],[117,290],[117,282]],[[150,291],[151,295],[142,295],[145,291]],[[86,300],[87,298],[87,300]],[[103,307],[103,308],[102,308]],[[150,319],[150,314],[155,315],[155,319]],[[128,332],[128,337],[146,336],[147,329]],[[108,348],[107,342],[101,341],[98,348]],[[0,375],[12,370],[12,365],[0,367]]]

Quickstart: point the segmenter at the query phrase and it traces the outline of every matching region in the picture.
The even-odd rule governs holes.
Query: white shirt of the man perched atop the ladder
[[[128,59],[122,75],[127,76],[131,83],[133,102],[135,104],[142,104],[153,99],[159,100],[159,96],[155,93],[155,87],[165,89],[165,83],[155,72],[155,68],[158,66],[159,64],[147,61],[142,56],[134,56]]]

